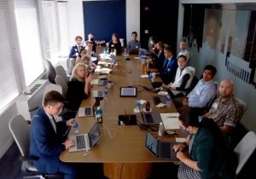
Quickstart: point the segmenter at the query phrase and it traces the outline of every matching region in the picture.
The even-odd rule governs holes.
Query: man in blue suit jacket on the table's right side
[[[167,46],[164,49],[165,61],[160,67],[160,77],[164,84],[170,84],[175,78],[177,71],[177,59],[173,55],[172,47]]]

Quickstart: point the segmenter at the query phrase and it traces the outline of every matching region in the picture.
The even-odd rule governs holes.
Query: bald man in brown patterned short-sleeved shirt
[[[220,82],[218,98],[213,102],[211,109],[204,115],[205,118],[212,118],[223,130],[228,133],[241,119],[241,106],[233,95],[234,85],[230,79],[223,79]]]

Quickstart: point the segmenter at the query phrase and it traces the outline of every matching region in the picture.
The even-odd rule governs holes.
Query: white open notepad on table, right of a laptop
[[[166,130],[179,129],[177,117],[179,113],[160,113],[160,117],[165,125]]]

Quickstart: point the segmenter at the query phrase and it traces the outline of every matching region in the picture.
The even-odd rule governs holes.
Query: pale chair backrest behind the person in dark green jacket
[[[256,148],[256,135],[253,131],[247,132],[247,134],[236,145],[234,152],[238,157],[238,165],[236,167],[236,175],[239,174],[242,167],[247,163],[247,160],[253,154]]]

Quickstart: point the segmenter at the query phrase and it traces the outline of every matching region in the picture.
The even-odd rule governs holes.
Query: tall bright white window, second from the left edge
[[[37,1],[15,0],[15,17],[26,86],[43,72]]]

